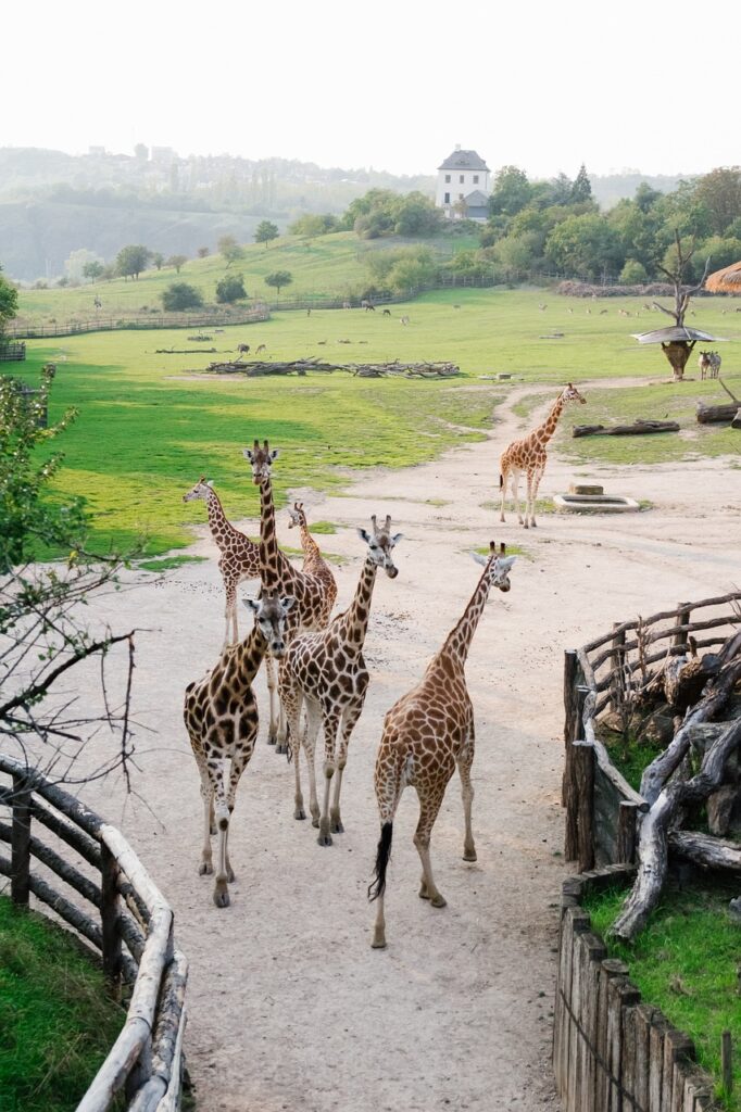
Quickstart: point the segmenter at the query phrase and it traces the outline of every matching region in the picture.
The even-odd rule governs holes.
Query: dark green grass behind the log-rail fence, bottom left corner
[[[69,932],[0,896],[0,1104],[76,1108],[124,1023]]]

